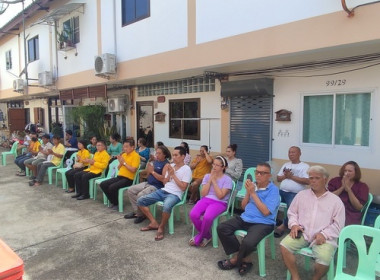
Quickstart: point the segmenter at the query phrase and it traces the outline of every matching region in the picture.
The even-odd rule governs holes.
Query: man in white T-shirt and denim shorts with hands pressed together
[[[137,200],[137,206],[150,221],[147,227],[141,228],[141,231],[157,230],[156,241],[164,239],[165,225],[170,218],[172,208],[181,201],[182,194],[191,180],[191,169],[184,163],[185,156],[185,148],[180,146],[175,147],[172,153],[173,163],[167,164],[163,171],[163,174],[165,174],[163,181],[165,186]],[[164,202],[160,224],[150,213],[148,207],[157,201]]]

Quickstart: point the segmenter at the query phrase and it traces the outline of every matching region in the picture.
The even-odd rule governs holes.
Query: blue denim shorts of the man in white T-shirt
[[[175,194],[168,193],[162,189],[159,189],[150,194],[144,195],[137,200],[137,206],[149,206],[158,201],[164,202],[163,212],[171,213],[172,208],[181,200]]]

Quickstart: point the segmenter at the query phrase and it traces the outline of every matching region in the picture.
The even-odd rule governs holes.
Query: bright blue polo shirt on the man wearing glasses
[[[256,193],[260,200],[267,206],[270,214],[264,216],[250,197],[249,202],[245,206],[244,213],[241,214],[241,218],[247,223],[275,225],[277,209],[280,206],[280,191],[278,187],[270,182],[265,190],[258,190]]]

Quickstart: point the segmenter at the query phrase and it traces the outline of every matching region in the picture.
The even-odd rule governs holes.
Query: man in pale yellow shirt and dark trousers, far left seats
[[[49,167],[58,166],[61,163],[63,154],[65,153],[65,147],[60,143],[61,138],[59,136],[53,136],[53,148],[48,150],[48,154],[51,156],[50,161],[44,161],[37,166],[37,178],[29,182],[29,186],[39,186],[44,180],[46,171]]]

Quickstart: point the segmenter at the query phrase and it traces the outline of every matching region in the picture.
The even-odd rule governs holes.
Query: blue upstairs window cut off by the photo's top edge
[[[123,26],[149,16],[150,0],[121,0],[121,20]]]

